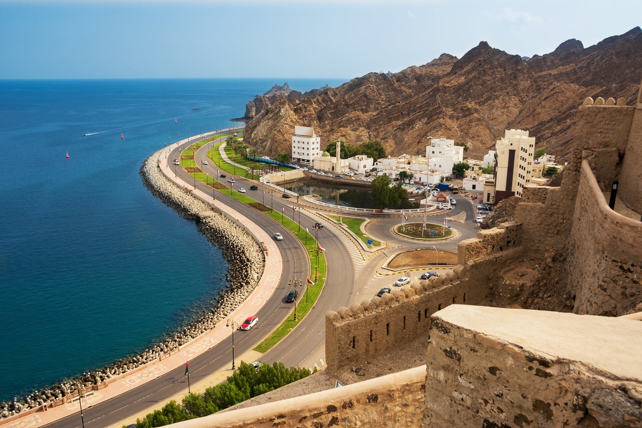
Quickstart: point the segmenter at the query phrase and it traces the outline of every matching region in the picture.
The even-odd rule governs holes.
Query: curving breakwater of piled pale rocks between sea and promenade
[[[76,379],[60,382],[47,388],[39,389],[11,401],[0,402],[0,420],[10,416],[35,411],[44,404],[55,406],[78,395],[78,386],[83,393],[105,386],[111,379],[130,372],[136,368],[162,359],[181,345],[197,338],[207,330],[213,329],[220,321],[238,307],[257,286],[265,268],[265,256],[254,238],[243,228],[220,212],[214,212],[211,205],[196,198],[191,191],[179,187],[169,180],[158,166],[160,152],[143,162],[141,176],[143,182],[167,205],[177,212],[198,223],[199,230],[209,241],[223,250],[223,257],[229,263],[227,284],[218,296],[209,312],[204,313],[177,331],[162,343],[157,343],[138,355],[114,361],[108,366],[94,372],[83,373]]]

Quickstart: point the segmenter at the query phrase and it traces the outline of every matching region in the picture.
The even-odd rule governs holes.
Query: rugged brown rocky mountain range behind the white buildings
[[[642,78],[642,30],[584,47],[571,39],[523,58],[487,42],[462,58],[447,53],[394,74],[369,73],[302,94],[273,88],[248,103],[244,138],[266,155],[290,153],[294,126],[313,126],[322,147],[379,140],[391,155],[425,153],[426,137],[465,143],[469,157],[492,149],[504,130],[528,130],[536,148],[569,153],[578,106],[587,96],[632,105]]]

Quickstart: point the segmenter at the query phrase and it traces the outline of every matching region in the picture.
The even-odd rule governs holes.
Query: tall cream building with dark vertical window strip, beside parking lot
[[[495,203],[522,196],[532,175],[535,137],[528,137],[528,131],[506,130],[495,151]]]

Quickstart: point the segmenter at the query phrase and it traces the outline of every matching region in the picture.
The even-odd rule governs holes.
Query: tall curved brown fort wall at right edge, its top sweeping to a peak
[[[617,316],[642,302],[642,222],[609,209],[585,160],[568,241],[573,312]]]

